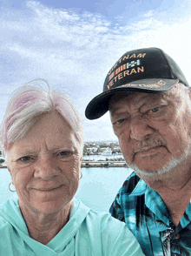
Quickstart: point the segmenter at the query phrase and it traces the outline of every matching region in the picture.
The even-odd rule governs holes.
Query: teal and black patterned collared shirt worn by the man
[[[175,227],[161,196],[135,172],[122,185],[109,212],[126,222],[145,255],[191,255],[191,204]]]

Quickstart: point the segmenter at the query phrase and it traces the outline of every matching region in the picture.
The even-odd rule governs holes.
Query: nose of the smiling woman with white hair
[[[56,166],[55,161],[55,159],[48,157],[39,158],[38,161],[36,161],[34,172],[35,178],[49,180],[54,176],[59,175],[60,170],[59,167]]]

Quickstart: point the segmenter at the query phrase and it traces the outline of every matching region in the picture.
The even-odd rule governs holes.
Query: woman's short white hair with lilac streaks
[[[38,118],[51,111],[60,113],[70,125],[82,152],[82,118],[73,102],[62,91],[50,88],[45,91],[38,85],[24,85],[14,91],[0,126],[0,148],[3,156],[6,156],[6,149],[10,145],[24,137]]]

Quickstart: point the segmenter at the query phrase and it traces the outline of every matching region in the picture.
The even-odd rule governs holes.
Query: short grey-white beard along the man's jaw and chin
[[[189,141],[188,148],[185,150],[185,152],[182,154],[180,158],[173,157],[172,159],[169,160],[167,165],[164,165],[161,169],[155,172],[149,172],[149,171],[147,172],[145,170],[140,169],[136,165],[128,165],[128,167],[133,169],[138,175],[139,174],[144,176],[161,175],[161,174],[170,172],[177,165],[181,165],[181,163],[190,156],[190,152],[191,152],[191,141]]]

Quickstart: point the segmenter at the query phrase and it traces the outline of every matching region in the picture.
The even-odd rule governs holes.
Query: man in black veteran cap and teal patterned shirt
[[[110,212],[146,255],[191,255],[191,91],[175,61],[156,48],[128,51],[112,67],[89,119],[109,111],[134,169]]]

